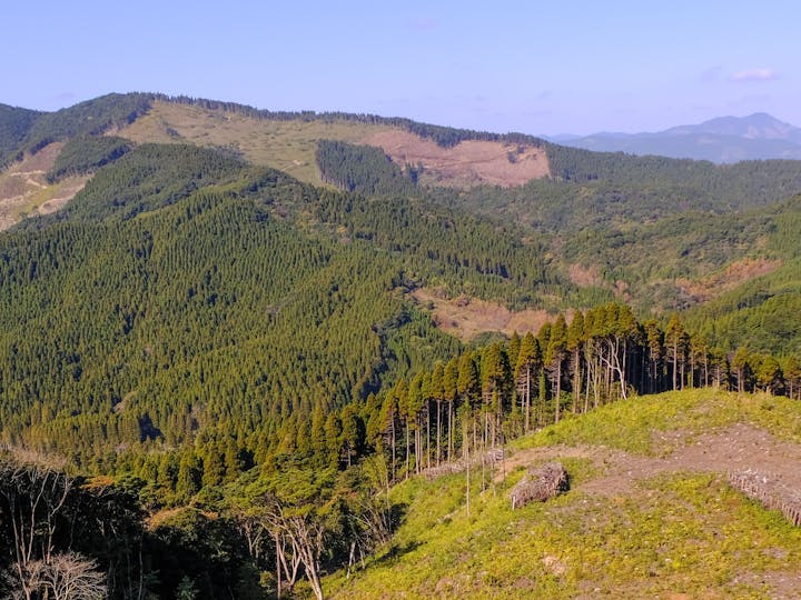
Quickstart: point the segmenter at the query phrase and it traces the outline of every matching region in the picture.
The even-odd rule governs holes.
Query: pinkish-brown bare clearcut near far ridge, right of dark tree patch
[[[400,167],[422,166],[422,181],[439,186],[511,188],[551,173],[545,149],[533,146],[465,140],[443,148],[399,129],[377,132],[362,143],[382,148]]]

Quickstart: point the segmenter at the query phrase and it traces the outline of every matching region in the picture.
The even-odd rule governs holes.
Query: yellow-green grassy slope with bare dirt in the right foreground
[[[469,516],[463,474],[396,487],[406,517],[392,547],[324,588],[337,598],[793,598],[801,529],[734,491],[725,470],[784,468],[790,483],[800,442],[801,406],[780,398],[694,390],[607,406],[521,440],[505,480],[487,477],[484,492],[474,471]],[[553,459],[571,491],[512,511],[508,489]]]

